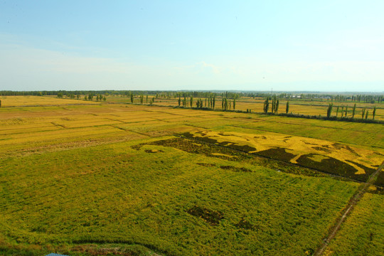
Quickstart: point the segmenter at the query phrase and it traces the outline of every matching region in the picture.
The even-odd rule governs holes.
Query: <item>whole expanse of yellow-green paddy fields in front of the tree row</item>
[[[1,102],[0,255],[314,255],[384,161],[383,124]],[[324,255],[383,255],[383,205],[380,171]]]

